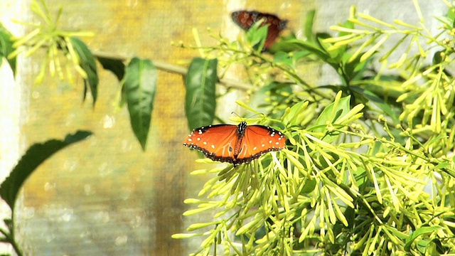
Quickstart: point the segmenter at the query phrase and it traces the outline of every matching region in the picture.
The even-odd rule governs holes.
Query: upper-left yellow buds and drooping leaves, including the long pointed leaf
[[[58,27],[62,14],[61,8],[55,19],[43,0],[33,0],[31,10],[43,22],[24,23],[33,28],[26,36],[15,38],[0,26],[0,57],[7,55],[11,67],[14,68],[18,54],[25,53],[28,57],[37,50],[45,50],[45,58],[35,82],[41,83],[46,70],[49,70],[52,77],[58,75],[60,80],[68,79],[71,84],[74,84],[73,71],[75,70],[84,80],[82,99],[85,100],[87,93],[90,93],[93,107],[98,97],[97,59],[103,68],[117,76],[119,82],[124,82],[120,105],[127,101],[134,135],[142,149],[145,149],[156,93],[156,68],[151,61],[132,58],[126,66],[124,62],[127,59],[95,54],[78,38],[78,36],[92,36],[92,33],[63,31]]]

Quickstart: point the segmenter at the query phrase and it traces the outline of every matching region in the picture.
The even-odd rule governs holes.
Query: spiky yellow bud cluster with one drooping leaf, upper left
[[[53,19],[43,0],[31,1],[31,11],[41,18],[42,22],[23,23],[32,28],[32,31],[21,38],[11,38],[14,41],[13,50],[9,53],[8,58],[14,59],[20,53],[25,53],[26,57],[29,57],[38,49],[43,48],[46,54],[35,80],[37,84],[43,82],[47,69],[52,77],[58,75],[60,80],[66,77],[73,83],[72,70],[76,70],[84,78],[85,85],[89,85],[90,89],[95,89],[97,75],[90,50],[76,38],[78,36],[92,36],[92,33],[60,30],[58,26],[62,9],[59,9],[57,16]],[[73,43],[75,43],[75,48]],[[61,58],[62,55],[65,57],[64,60]],[[91,92],[95,103],[96,90]]]

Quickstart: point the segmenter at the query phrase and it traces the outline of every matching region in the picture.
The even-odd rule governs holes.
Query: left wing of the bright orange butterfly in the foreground
[[[234,148],[237,137],[236,125],[215,124],[194,129],[183,142],[183,146],[197,149],[213,161],[235,164]]]

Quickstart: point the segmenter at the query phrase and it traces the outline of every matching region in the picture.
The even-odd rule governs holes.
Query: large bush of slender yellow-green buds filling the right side
[[[221,73],[245,67],[254,84],[242,106],[260,109],[260,123],[283,127],[289,142],[250,164],[193,171],[218,175],[184,215],[213,219],[173,238],[203,237],[194,255],[455,253],[454,10],[437,18],[436,36],[423,18],[386,23],[354,8],[331,27],[338,35],[314,34],[311,12],[306,40],[282,38],[273,55],[253,47],[259,31],[233,43],[213,36],[219,45],[203,54],[217,56]],[[304,80],[311,62],[341,83]]]

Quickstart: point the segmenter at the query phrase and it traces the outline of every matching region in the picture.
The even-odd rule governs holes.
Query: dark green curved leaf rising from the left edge
[[[75,134],[68,134],[63,140],[51,139],[48,142],[33,144],[18,161],[11,174],[1,183],[1,198],[8,203],[11,210],[14,210],[22,184],[43,161],[65,146],[80,142],[91,134],[87,131],[77,131]]]

